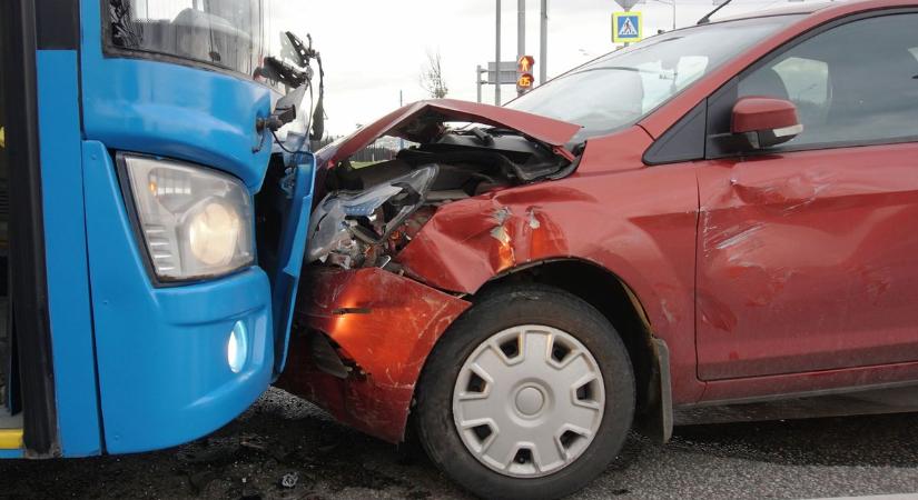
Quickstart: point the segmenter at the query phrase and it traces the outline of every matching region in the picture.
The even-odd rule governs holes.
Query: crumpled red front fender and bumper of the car
[[[446,173],[424,206],[386,244],[366,252],[362,264],[326,260],[310,267],[314,283],[306,289],[313,299],[300,302],[299,318],[330,338],[344,368],[323,349],[326,371],[318,370],[308,338],[300,336],[289,354],[296,369],[287,370],[283,387],[345,423],[398,441],[430,350],[468,307],[456,297],[530,267],[575,261],[606,270],[641,298],[654,336],[673,352],[673,403],[697,401],[703,391],[692,334],[697,178],[688,166],[634,167],[649,143],[640,128],[593,139],[576,171],[525,184],[493,182],[474,162],[438,163]],[[625,167],[605,176],[595,166]],[[338,180],[348,189],[373,189],[405,167],[388,162]],[[462,196],[452,194],[457,189],[464,189]],[[346,379],[336,378],[345,372]]]

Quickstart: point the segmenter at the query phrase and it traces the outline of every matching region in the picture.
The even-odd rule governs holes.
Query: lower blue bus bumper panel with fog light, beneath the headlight
[[[111,156],[83,143],[87,234],[106,449],[167,448],[223,427],[273,376],[270,287],[259,268],[155,288],[125,209]],[[234,324],[249,332],[240,373],[227,362]]]

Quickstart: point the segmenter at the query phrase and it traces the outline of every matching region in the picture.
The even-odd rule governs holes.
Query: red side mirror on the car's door
[[[752,149],[763,149],[799,136],[803,124],[797,117],[793,102],[769,97],[744,97],[733,106],[730,131],[744,136]]]

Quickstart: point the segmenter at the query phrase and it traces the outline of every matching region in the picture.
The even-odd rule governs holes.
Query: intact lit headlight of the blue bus
[[[251,197],[238,179],[171,160],[119,158],[160,280],[211,278],[253,263]]]

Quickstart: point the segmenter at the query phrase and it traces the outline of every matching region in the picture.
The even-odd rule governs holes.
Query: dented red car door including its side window
[[[702,379],[918,360],[916,21],[801,37],[709,100],[709,157],[738,98],[792,102],[802,132],[699,170]]]

